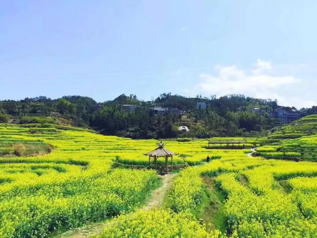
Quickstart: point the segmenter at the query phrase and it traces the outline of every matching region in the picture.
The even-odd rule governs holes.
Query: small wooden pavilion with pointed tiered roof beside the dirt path
[[[173,155],[178,155],[174,152],[164,148],[162,142],[157,144],[159,147],[144,154],[149,156],[149,166],[151,169],[155,169],[159,174],[171,174],[173,173]],[[154,159],[154,164],[151,164],[151,157]],[[165,165],[157,165],[156,160],[159,157],[165,158]],[[168,158],[171,157],[171,165],[168,165]]]

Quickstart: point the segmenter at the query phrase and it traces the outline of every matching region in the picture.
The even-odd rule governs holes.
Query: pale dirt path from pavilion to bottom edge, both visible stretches
[[[159,175],[159,177],[162,178],[162,186],[152,192],[152,198],[146,204],[145,210],[150,210],[151,208],[162,205],[165,192],[171,186],[173,178],[177,175],[178,174]],[[51,238],[88,238],[90,235],[96,235],[103,231],[106,224],[107,221],[90,223],[86,226],[75,228],[74,230],[62,234],[52,235]]]

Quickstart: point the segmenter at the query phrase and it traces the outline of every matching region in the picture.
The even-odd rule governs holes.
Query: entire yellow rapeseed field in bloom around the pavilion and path
[[[210,150],[206,140],[167,140],[165,147],[179,153],[173,163],[197,166],[182,170],[173,181],[169,207],[145,211],[137,208],[159,186],[159,177],[154,171],[112,165],[147,166],[143,153],[155,149],[157,140],[101,136],[71,127],[32,134],[30,128],[36,127],[0,126],[0,151],[20,142],[55,149],[42,156],[0,157],[0,237],[45,237],[111,216],[116,217],[95,237],[317,237],[314,162]],[[207,230],[190,213],[205,197],[205,175],[215,179],[225,196],[226,234]]]

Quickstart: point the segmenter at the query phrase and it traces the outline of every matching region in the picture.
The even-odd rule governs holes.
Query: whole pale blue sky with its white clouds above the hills
[[[4,1],[0,99],[235,93],[317,105],[316,1]]]

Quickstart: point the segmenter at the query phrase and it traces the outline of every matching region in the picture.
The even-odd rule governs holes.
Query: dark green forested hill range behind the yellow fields
[[[206,108],[198,108],[204,102]],[[130,112],[124,104],[136,105]],[[154,107],[179,109],[183,115],[166,112],[155,115]],[[254,108],[274,110],[276,100],[257,99],[244,95],[188,98],[163,93],[153,101],[139,100],[136,95],[124,94],[114,100],[96,102],[90,97],[64,96],[50,99],[45,96],[20,101],[0,101],[0,123],[56,123],[79,127],[92,127],[106,135],[131,138],[171,138],[211,136],[257,136],[280,125],[278,119],[261,116]],[[301,109],[302,116],[317,113],[317,108]],[[188,132],[180,132],[187,126]]]

